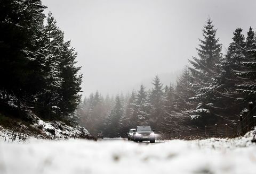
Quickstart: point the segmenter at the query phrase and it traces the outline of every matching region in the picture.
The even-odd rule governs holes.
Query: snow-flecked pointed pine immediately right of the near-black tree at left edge
[[[62,58],[64,33],[57,27],[57,22],[51,12],[47,16],[44,33],[43,41],[45,43],[45,49],[42,53],[44,55],[44,61],[42,62],[44,84],[42,85],[42,91],[37,96],[37,102],[44,103],[45,106],[49,107],[59,107],[60,95],[58,91],[62,82],[62,78],[60,77],[60,61]]]

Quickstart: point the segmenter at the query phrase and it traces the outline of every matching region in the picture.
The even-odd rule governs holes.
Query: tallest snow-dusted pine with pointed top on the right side
[[[203,38],[199,39],[201,44],[197,48],[199,58],[193,57],[194,60],[189,60],[193,67],[189,67],[193,75],[192,88],[195,91],[195,96],[190,99],[196,103],[196,107],[190,111],[192,119],[200,118],[196,121],[199,125],[214,124],[214,115],[210,111],[212,103],[218,98],[215,95],[216,79],[220,72],[219,63],[222,57],[221,44],[216,38],[217,29],[214,29],[211,19],[207,20],[203,29]]]

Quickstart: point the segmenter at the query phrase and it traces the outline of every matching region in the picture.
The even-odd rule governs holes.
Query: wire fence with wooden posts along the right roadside
[[[254,113],[256,106],[249,103],[249,110],[245,110],[238,120],[233,120],[228,124],[222,125],[205,125],[204,127],[188,128],[188,129],[169,129],[161,132],[161,138],[164,140],[184,139],[194,140],[210,137],[229,137],[234,138],[244,135],[256,126],[256,116]]]

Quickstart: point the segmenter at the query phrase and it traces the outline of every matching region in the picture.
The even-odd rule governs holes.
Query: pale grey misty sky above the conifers
[[[78,52],[85,95],[126,93],[156,74],[180,71],[197,56],[208,16],[223,53],[237,27],[244,34],[256,28],[255,0],[42,1]]]

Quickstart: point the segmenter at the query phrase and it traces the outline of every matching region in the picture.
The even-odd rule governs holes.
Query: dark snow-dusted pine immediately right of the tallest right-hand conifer
[[[237,120],[244,105],[244,95],[236,91],[235,86],[243,81],[236,76],[237,71],[242,68],[241,62],[245,60],[246,53],[246,42],[242,31],[241,28],[237,28],[233,32],[233,42],[230,43],[228,53],[220,63],[221,73],[217,77],[217,92],[220,100],[215,102],[212,107],[215,108],[215,114],[220,116],[221,123]]]

